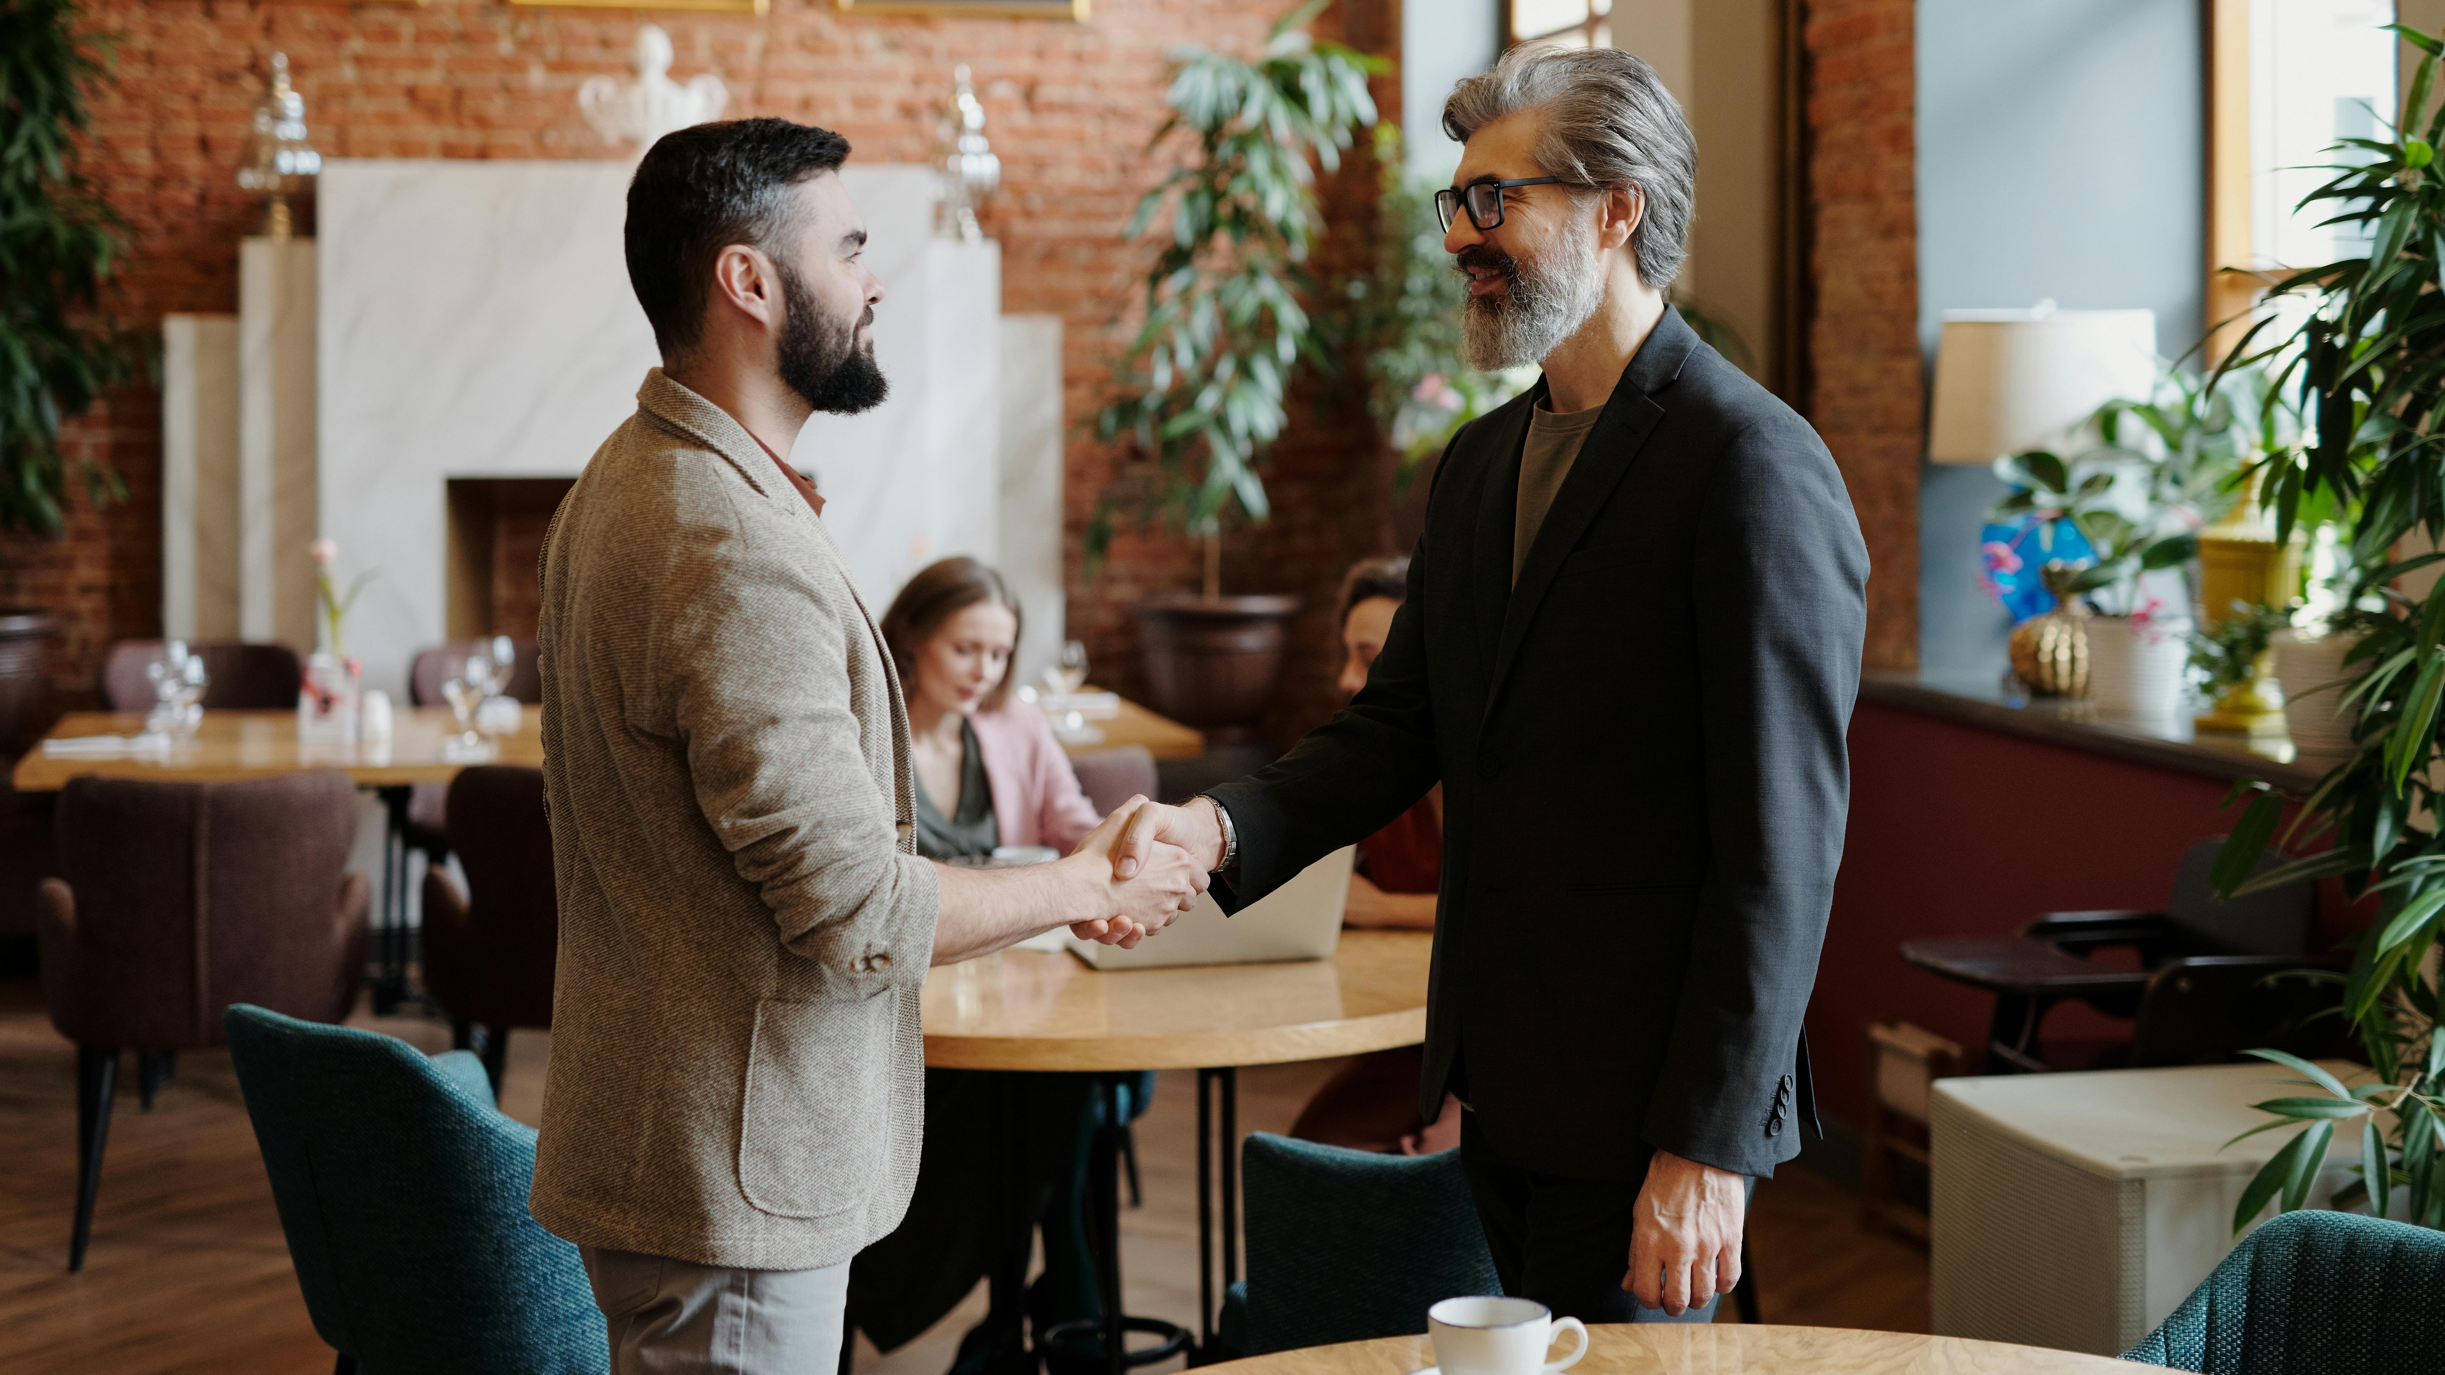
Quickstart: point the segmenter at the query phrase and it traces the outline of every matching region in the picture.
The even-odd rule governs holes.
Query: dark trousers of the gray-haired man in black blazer
[[[1567,1179],[1499,1157],[1477,1113],[1460,1118],[1460,1165],[1477,1221],[1494,1250],[1504,1294],[1535,1299],[1584,1324],[1712,1324],[1721,1299],[1682,1316],[1643,1309],[1621,1277],[1631,1270],[1631,1223],[1641,1179]]]

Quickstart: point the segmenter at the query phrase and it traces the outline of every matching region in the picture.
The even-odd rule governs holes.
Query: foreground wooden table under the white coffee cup
[[[1418,1316],[1425,1321],[1425,1314]],[[1232,1375],[1408,1375],[1435,1363],[1425,1336],[1279,1351],[1215,1365]],[[2130,1375],[2127,1360],[1958,1336],[1748,1324],[1597,1324],[1570,1375]]]

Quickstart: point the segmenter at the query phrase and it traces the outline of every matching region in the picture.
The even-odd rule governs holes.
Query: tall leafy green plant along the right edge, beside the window
[[[2396,582],[2445,553],[2396,558],[2403,546],[2435,548],[2445,536],[2440,470],[2440,379],[2445,379],[2445,183],[2438,139],[2445,108],[2430,98],[2445,44],[2396,29],[2423,59],[2389,137],[2345,139],[2350,164],[2303,206],[2359,225],[2369,252],[2284,276],[2269,308],[2232,350],[2230,365],[2269,365],[2286,389],[2298,384],[2308,440],[2267,458],[2267,492],[2279,533],[2330,504],[2350,521],[2345,700],[2357,707],[2355,749],[2301,800],[2291,837],[2333,837],[2333,849],[2249,878],[2274,839],[2286,798],[2254,785],[2257,798],[2232,827],[2213,871],[2230,891],[2337,876],[2352,898],[2377,895],[2377,922],[2352,942],[2342,1008],[2369,1062],[2372,1081],[2342,1079],[2291,1054],[2264,1059],[2301,1074],[2306,1094],[2259,1103],[2271,1116],[2254,1130],[2308,1123],[2252,1179],[2232,1218],[2247,1226],[2269,1201],[2298,1209],[2325,1165],[2337,1130],[2359,1135],[2362,1182],[2340,1204],[2389,1209],[2421,1226],[2445,1226],[2445,1037],[2438,1035],[2435,952],[2445,920],[2445,837],[2438,802],[2440,705],[2445,705],[2445,595],[2406,592]],[[2364,159],[2364,161],[2362,161]],[[2262,335],[2276,338],[2262,345]],[[2377,607],[2377,609],[2367,609]],[[2396,1194],[2401,1192],[2401,1194]],[[2396,1204],[2399,1201],[2399,1204]]]

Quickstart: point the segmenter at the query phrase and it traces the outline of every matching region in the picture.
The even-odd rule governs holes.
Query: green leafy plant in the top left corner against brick
[[[0,528],[56,536],[71,470],[93,499],[110,470],[59,448],[66,418],[125,382],[132,340],[100,318],[117,213],[76,166],[98,42],[71,0],[0,0]]]

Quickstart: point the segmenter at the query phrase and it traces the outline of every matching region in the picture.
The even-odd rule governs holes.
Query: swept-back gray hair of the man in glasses
[[[1697,137],[1655,69],[1621,49],[1521,44],[1452,88],[1443,132],[1469,142],[1523,110],[1545,115],[1535,159],[1550,176],[1597,191],[1638,188],[1643,210],[1631,232],[1638,279],[1658,291],[1670,286],[1689,254]]]

